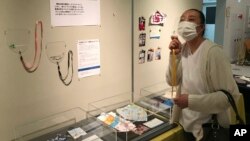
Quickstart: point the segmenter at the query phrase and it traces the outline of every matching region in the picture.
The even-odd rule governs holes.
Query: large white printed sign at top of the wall
[[[100,0],[50,0],[52,26],[100,25]]]

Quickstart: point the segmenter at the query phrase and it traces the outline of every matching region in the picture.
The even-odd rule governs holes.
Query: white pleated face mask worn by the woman
[[[198,25],[193,22],[182,21],[178,26],[178,34],[186,41],[190,41],[197,37],[196,27]]]

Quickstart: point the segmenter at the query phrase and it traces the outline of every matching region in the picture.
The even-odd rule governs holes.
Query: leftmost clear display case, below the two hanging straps
[[[15,141],[102,141],[113,129],[96,120],[81,108],[73,108],[15,128]]]

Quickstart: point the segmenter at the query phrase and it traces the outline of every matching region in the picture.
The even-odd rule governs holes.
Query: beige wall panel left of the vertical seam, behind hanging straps
[[[92,101],[132,91],[132,0],[101,0],[100,17],[100,25],[96,26],[52,27],[50,0],[1,0],[1,140],[13,139],[16,126],[74,107],[87,110]],[[29,31],[29,46],[22,55],[26,62],[32,63],[38,20],[43,23],[41,60],[37,70],[28,73],[19,53],[9,47],[6,38],[13,30]],[[37,30],[40,33],[39,26]],[[79,78],[77,42],[92,39],[99,39],[100,74]],[[46,54],[46,45],[57,41],[66,44],[66,55],[60,62],[63,76],[68,71],[67,52],[73,52],[72,82],[68,86],[59,79],[57,64]]]

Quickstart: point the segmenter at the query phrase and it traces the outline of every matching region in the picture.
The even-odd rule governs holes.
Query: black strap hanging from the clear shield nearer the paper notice
[[[71,61],[70,61],[70,60],[71,60]],[[70,62],[71,62],[71,71],[72,71],[72,75],[71,75],[70,81],[67,83],[67,82],[66,82],[66,79],[67,79],[68,76],[69,76]],[[67,70],[66,76],[65,76],[65,77],[62,76],[59,62],[57,62],[57,70],[58,70],[58,74],[59,74],[60,80],[63,82],[64,85],[68,86],[68,85],[72,82],[72,78],[73,78],[73,52],[72,52],[71,50],[68,51],[68,70]]]

